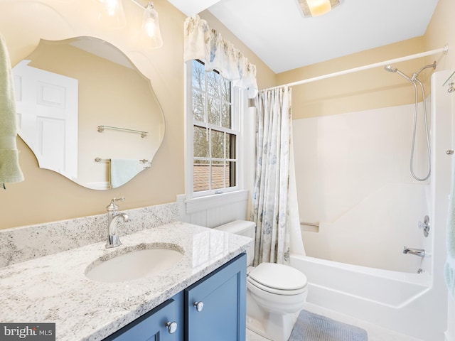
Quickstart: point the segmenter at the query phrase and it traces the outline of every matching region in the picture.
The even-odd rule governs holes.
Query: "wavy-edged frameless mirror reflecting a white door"
[[[18,135],[40,168],[103,190],[151,166],[164,114],[150,80],[113,45],[40,40],[13,72]]]

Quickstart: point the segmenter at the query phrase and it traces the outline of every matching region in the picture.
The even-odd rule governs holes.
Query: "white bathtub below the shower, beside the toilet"
[[[291,266],[309,281],[307,302],[421,340],[444,340],[446,302],[432,276],[373,269],[299,254]],[[442,288],[444,289],[444,288]]]

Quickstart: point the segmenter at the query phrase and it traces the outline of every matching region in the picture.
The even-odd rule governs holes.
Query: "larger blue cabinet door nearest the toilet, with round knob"
[[[246,258],[237,256],[185,290],[186,341],[245,341]]]

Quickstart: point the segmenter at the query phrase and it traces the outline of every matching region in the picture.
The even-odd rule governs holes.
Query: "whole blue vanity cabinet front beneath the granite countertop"
[[[240,254],[103,341],[245,341],[246,269]]]

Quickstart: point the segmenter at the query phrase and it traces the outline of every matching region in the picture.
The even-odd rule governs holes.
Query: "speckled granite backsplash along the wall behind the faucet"
[[[118,233],[120,237],[178,220],[176,202],[134,210],[122,210],[121,208],[119,211],[127,213],[130,221],[119,224]],[[102,242],[106,238],[107,214],[14,229],[0,229],[0,268]]]

